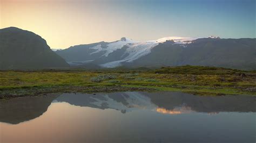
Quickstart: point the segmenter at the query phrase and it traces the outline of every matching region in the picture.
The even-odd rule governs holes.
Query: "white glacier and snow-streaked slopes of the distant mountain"
[[[62,51],[58,51],[57,53],[59,55],[64,56],[67,59],[67,62],[71,66],[81,66],[81,65],[84,65],[85,63],[90,63],[95,60],[97,61],[98,59],[107,59],[107,57],[111,57],[111,55],[109,56],[109,54],[111,53],[113,54],[117,51],[122,51],[123,53],[122,55],[119,55],[120,58],[118,58],[118,60],[111,60],[111,61],[106,60],[109,62],[104,62],[102,64],[99,64],[100,67],[114,68],[114,67],[122,66],[122,63],[124,62],[131,63],[132,61],[137,60],[142,56],[145,56],[151,53],[151,49],[157,46],[159,43],[163,43],[166,41],[173,41],[174,44],[180,44],[181,46],[184,46],[185,44],[189,44],[196,39],[197,38],[191,38],[191,37],[165,37],[157,40],[139,42],[139,41],[134,41],[132,39],[123,37],[118,41],[114,41],[110,43],[99,42],[89,47],[85,47],[87,45],[78,45],[78,46],[71,47],[72,49],[80,48],[80,51],[83,51],[82,48],[87,48],[86,53],[85,52],[81,53],[81,54],[84,54],[84,57],[79,56],[80,58],[73,57],[75,59],[72,59],[72,58],[69,59],[70,55],[68,55],[69,57],[66,57],[65,54],[62,54],[64,53]],[[71,48],[66,49],[66,51],[72,50]],[[79,51],[78,49],[76,50]],[[86,59],[88,58],[88,56],[86,56],[87,54],[91,56],[90,60]],[[117,55],[114,55],[114,56],[117,56]],[[83,60],[83,59],[86,59],[86,60]]]

